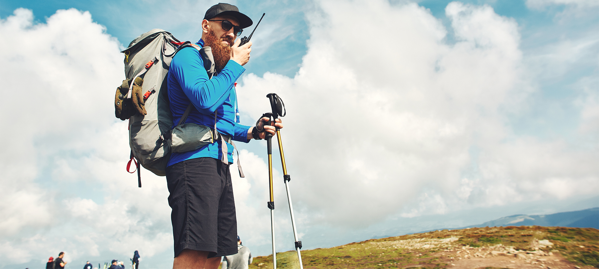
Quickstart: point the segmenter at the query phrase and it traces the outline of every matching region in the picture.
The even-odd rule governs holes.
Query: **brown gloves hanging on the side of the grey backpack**
[[[131,80],[123,80],[123,84],[116,88],[116,94],[114,95],[114,115],[120,118],[120,120],[127,120],[132,115],[135,115],[136,112],[147,115],[144,94],[141,89],[143,82],[144,80],[140,77],[135,78],[131,99],[126,98],[129,93]]]

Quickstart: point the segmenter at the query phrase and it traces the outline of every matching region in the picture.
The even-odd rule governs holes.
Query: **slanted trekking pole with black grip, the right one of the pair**
[[[283,113],[283,110],[285,109],[285,104],[283,103],[283,100],[281,100],[281,98],[276,93],[269,93],[266,97],[268,97],[268,99],[270,100],[270,107],[273,111],[273,118],[276,120],[278,116],[285,117],[287,111],[285,110],[285,113]],[[287,174],[287,167],[285,166],[285,154],[283,154],[283,142],[281,139],[281,131],[279,127],[275,128],[277,131],[277,141],[279,142],[279,154],[281,155],[281,164],[283,166],[283,182],[285,182],[287,200],[289,202],[289,212],[291,212],[291,226],[294,228],[295,250],[298,253],[299,268],[304,269],[304,265],[301,261],[301,253],[299,252],[299,249],[301,249],[301,241],[298,240],[298,233],[295,229],[294,206],[291,203],[291,192],[289,191],[289,181],[291,181],[291,176]],[[268,155],[268,160],[270,163],[270,155]]]

